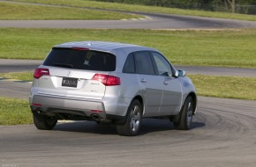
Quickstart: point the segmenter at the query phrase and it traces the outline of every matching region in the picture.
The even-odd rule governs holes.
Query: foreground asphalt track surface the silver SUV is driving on
[[[0,166],[256,166],[256,102],[200,98],[192,130],[143,120],[139,136],[114,126],[61,123],[52,131],[0,127]]]

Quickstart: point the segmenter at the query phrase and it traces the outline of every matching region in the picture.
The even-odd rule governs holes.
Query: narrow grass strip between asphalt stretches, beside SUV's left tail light
[[[10,72],[10,73],[0,73],[0,77],[6,79],[17,79],[21,81],[32,81],[34,72]]]

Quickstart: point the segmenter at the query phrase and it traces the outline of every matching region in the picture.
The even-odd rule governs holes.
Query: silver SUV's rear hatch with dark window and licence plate
[[[114,54],[86,48],[54,47],[34,75],[38,77],[39,94],[102,99],[109,72],[114,70]]]

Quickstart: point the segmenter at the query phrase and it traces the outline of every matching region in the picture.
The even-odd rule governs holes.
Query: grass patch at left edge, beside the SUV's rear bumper
[[[0,125],[27,125],[32,122],[27,100],[0,98]]]

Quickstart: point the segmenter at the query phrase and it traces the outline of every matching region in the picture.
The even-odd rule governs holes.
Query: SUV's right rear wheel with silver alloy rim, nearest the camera
[[[117,125],[117,133],[120,135],[134,136],[138,134],[142,117],[142,107],[139,100],[135,99],[127,111],[127,117],[122,125]]]

